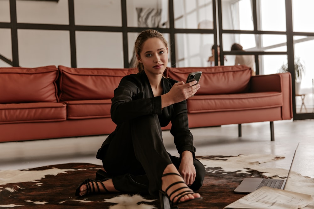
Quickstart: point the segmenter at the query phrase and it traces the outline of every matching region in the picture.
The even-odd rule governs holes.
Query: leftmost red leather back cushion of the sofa
[[[0,103],[57,102],[57,77],[53,65],[0,68]]]

